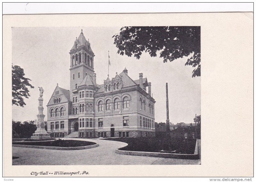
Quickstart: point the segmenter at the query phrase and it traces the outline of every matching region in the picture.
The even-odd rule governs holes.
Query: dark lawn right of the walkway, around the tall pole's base
[[[106,138],[106,140],[125,142],[128,146],[120,148],[126,151],[160,152],[175,151],[176,154],[194,154],[196,139],[181,138]]]

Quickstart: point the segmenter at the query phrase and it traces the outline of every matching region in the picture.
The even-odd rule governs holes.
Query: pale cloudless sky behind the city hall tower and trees
[[[185,66],[187,57],[172,62],[163,62],[163,58],[150,57],[143,52],[140,59],[117,54],[113,35],[121,27],[13,27],[12,63],[24,69],[25,77],[31,79],[35,87],[29,87],[30,97],[24,99],[24,107],[12,106],[12,119],[26,121],[37,119],[39,88],[44,88],[44,115],[47,115],[47,103],[57,85],[69,90],[70,55],[76,37],[83,33],[91,43],[94,57],[96,82],[103,84],[108,75],[108,51],[110,56],[109,77],[128,70],[128,75],[139,79],[147,77],[151,82],[151,93],[156,100],[155,122],[166,122],[166,89],[168,83],[169,118],[173,124],[191,123],[195,115],[201,113],[201,78],[192,78],[192,66]],[[44,120],[47,120],[45,116]]]

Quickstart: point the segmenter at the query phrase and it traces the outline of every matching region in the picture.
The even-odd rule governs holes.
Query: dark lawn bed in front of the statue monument
[[[94,142],[79,140],[55,140],[55,141],[38,141],[38,142],[12,142],[16,145],[34,145],[34,146],[59,146],[59,147],[76,147],[94,145]]]

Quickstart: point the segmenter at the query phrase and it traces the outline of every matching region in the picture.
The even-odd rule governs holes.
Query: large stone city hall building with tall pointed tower
[[[151,83],[142,73],[133,80],[124,68],[97,84],[95,55],[83,31],[69,53],[70,90],[57,84],[47,104],[51,137],[155,136],[156,101],[151,97]]]

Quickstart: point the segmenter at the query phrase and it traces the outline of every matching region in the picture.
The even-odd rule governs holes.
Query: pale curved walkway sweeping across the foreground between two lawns
[[[85,138],[62,138],[86,140],[99,146],[84,150],[50,150],[37,148],[12,147],[12,165],[149,165],[149,164],[200,164],[200,159],[172,159],[146,156],[116,154],[117,148],[126,143]]]

